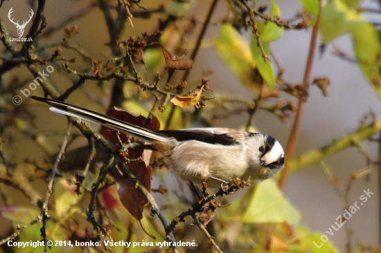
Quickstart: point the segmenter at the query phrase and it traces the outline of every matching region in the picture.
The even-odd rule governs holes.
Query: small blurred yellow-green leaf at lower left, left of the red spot
[[[55,200],[55,212],[58,217],[68,214],[70,207],[76,205],[81,199],[80,196],[74,194],[75,189],[76,186],[69,185],[64,178],[57,180],[55,183],[53,194]]]

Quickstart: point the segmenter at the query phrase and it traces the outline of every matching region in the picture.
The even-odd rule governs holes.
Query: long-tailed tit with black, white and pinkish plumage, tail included
[[[169,169],[191,182],[208,180],[209,187],[233,178],[265,180],[283,169],[285,155],[272,136],[228,128],[149,131],[94,111],[42,97],[51,111],[96,122],[134,138],[150,142],[150,149],[168,158]]]

